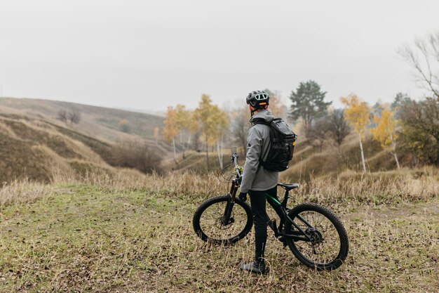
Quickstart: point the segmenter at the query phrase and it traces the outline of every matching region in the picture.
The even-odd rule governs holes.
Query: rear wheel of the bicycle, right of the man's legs
[[[304,203],[291,209],[288,216],[310,237],[309,241],[287,239],[288,247],[300,262],[325,271],[342,265],[348,255],[348,235],[332,211],[318,204]],[[290,221],[285,223],[285,230],[288,234],[298,233]]]

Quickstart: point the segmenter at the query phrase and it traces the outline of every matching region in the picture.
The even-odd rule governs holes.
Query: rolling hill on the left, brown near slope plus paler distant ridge
[[[60,110],[81,113],[78,124],[56,119]],[[130,132],[117,129],[126,119]],[[162,117],[88,105],[0,98],[0,184],[15,179],[48,182],[57,174],[112,174],[114,145],[137,141],[166,154],[168,145],[156,143],[151,131]]]

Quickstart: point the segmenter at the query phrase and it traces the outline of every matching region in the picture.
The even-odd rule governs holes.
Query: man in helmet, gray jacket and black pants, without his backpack
[[[243,178],[241,181],[241,193],[239,199],[245,201],[247,193],[250,195],[253,221],[255,223],[255,261],[242,264],[245,271],[264,274],[268,267],[264,261],[264,250],[266,245],[266,226],[269,223],[269,216],[266,214],[266,200],[273,206],[271,197],[277,200],[278,172],[264,169],[259,164],[259,159],[266,159],[270,148],[270,126],[274,119],[269,107],[269,95],[265,91],[252,91],[246,98],[250,108],[252,126],[248,131],[247,153]],[[260,123],[264,120],[264,123]],[[257,123],[258,122],[258,123]],[[266,197],[266,195],[271,197]]]

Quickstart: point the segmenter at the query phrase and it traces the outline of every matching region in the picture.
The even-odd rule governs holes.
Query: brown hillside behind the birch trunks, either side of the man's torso
[[[389,152],[383,150],[377,141],[372,140],[368,135],[363,141],[367,169],[371,172],[395,170],[396,162]],[[231,148],[224,149],[224,166],[229,164]],[[210,166],[212,171],[219,171],[217,152],[209,153]],[[245,163],[245,153],[238,149],[238,164]],[[399,150],[398,159],[402,167],[412,167],[410,153]],[[180,155],[175,164],[169,161],[170,168],[178,170],[195,170],[205,172],[207,170],[205,152],[185,152]],[[299,136],[295,146],[294,156],[290,162],[290,168],[282,172],[283,180],[288,181],[309,181],[311,177],[332,177],[335,178],[343,172],[361,171],[360,145],[358,136],[351,134],[346,137],[338,149],[330,140],[325,141],[323,148],[311,145],[309,141]]]

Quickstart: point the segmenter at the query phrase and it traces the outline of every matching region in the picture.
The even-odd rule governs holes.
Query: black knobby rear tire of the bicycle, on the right
[[[293,209],[291,209],[288,212],[288,216],[290,216],[290,219],[292,219],[293,221],[295,221],[295,223],[297,223],[299,221],[299,219],[297,219],[297,215],[299,214],[304,214],[306,213],[306,211],[311,211],[311,212],[316,212],[322,216],[324,216],[328,221],[330,221],[330,223],[332,223],[332,225],[334,226],[335,230],[337,231],[337,235],[338,235],[338,240],[339,240],[339,249],[338,249],[338,253],[337,256],[333,257],[332,259],[330,259],[330,261],[325,261],[325,262],[319,262],[319,261],[314,261],[312,259],[310,259],[309,257],[307,257],[302,250],[303,247],[299,247],[299,243],[306,243],[306,245],[312,246],[313,248],[313,254],[316,254],[316,247],[314,247],[312,242],[303,242],[302,240],[298,240],[298,241],[294,241],[291,237],[288,237],[287,239],[287,243],[288,243],[288,247],[290,248],[292,254],[294,254],[296,256],[296,258],[303,263],[305,266],[309,267],[309,268],[315,268],[318,271],[332,271],[335,270],[336,268],[338,268],[339,266],[342,266],[342,264],[344,263],[348,252],[349,252],[349,240],[348,240],[348,235],[346,233],[346,229],[343,226],[342,221],[340,221],[337,216],[335,216],[335,214],[330,211],[330,209],[327,209],[325,207],[322,207],[318,204],[314,204],[314,203],[304,203],[304,204],[299,204],[296,207],[294,207]],[[302,216],[301,215],[301,216]],[[313,225],[313,223],[311,223],[311,225]],[[286,231],[292,231],[292,228],[294,230],[294,226],[292,226],[292,223],[290,223],[290,221],[287,221],[287,223],[285,223],[285,230]],[[318,227],[317,227],[318,228]],[[320,237],[321,237],[321,242],[323,243],[325,239],[325,237],[327,237],[328,235],[323,235],[320,233]],[[331,236],[331,235],[329,235]],[[334,236],[335,237],[335,236]],[[337,240],[337,238],[336,238]],[[337,241],[335,241],[337,242]],[[320,244],[318,243],[318,244]],[[302,248],[302,249],[301,249]]]

